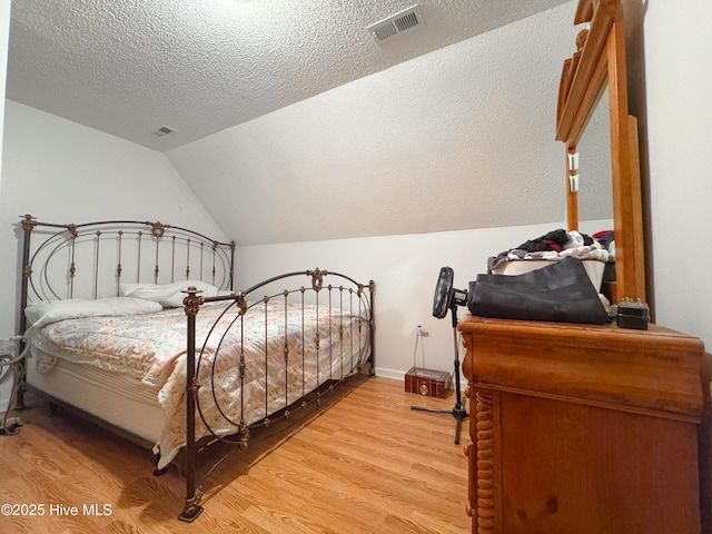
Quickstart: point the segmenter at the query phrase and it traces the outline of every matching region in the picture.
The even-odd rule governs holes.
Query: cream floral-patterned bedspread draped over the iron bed
[[[258,303],[227,333],[225,328],[210,333],[224,308],[225,304],[201,307],[196,326],[198,355],[206,345],[199,356],[199,413],[218,435],[271,415],[328,379],[354,373],[359,347],[367,345],[367,322],[359,332],[358,318],[346,310],[329,315],[326,306],[318,313],[316,307],[304,307],[303,319],[301,305],[285,306],[277,299]],[[230,310],[220,325],[227,326],[236,316]],[[30,328],[28,335],[34,357],[40,358],[39,368],[49,372],[52,359],[62,358],[126,373],[159,388],[165,415],[156,444],[160,468],[186,442],[186,332],[185,312],[176,308],[141,316],[67,319]],[[205,434],[197,415],[196,435]]]

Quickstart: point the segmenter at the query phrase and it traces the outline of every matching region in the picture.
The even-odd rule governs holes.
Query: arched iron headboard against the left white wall
[[[234,241],[158,221],[52,224],[24,215],[20,226],[21,333],[30,301],[118,296],[122,283],[202,280],[234,289]]]

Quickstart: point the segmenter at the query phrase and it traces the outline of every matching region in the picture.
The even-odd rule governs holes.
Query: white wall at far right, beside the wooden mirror
[[[712,350],[712,2],[647,2],[644,22],[657,322]]]

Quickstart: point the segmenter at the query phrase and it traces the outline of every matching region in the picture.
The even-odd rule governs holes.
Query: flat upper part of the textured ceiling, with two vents
[[[12,0],[7,97],[165,151],[566,1]]]

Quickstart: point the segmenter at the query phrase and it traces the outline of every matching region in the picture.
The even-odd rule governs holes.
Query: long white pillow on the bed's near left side
[[[160,304],[141,300],[140,298],[110,297],[97,300],[70,298],[68,300],[30,304],[24,308],[24,316],[32,326],[39,328],[62,319],[150,314],[161,309]]]

